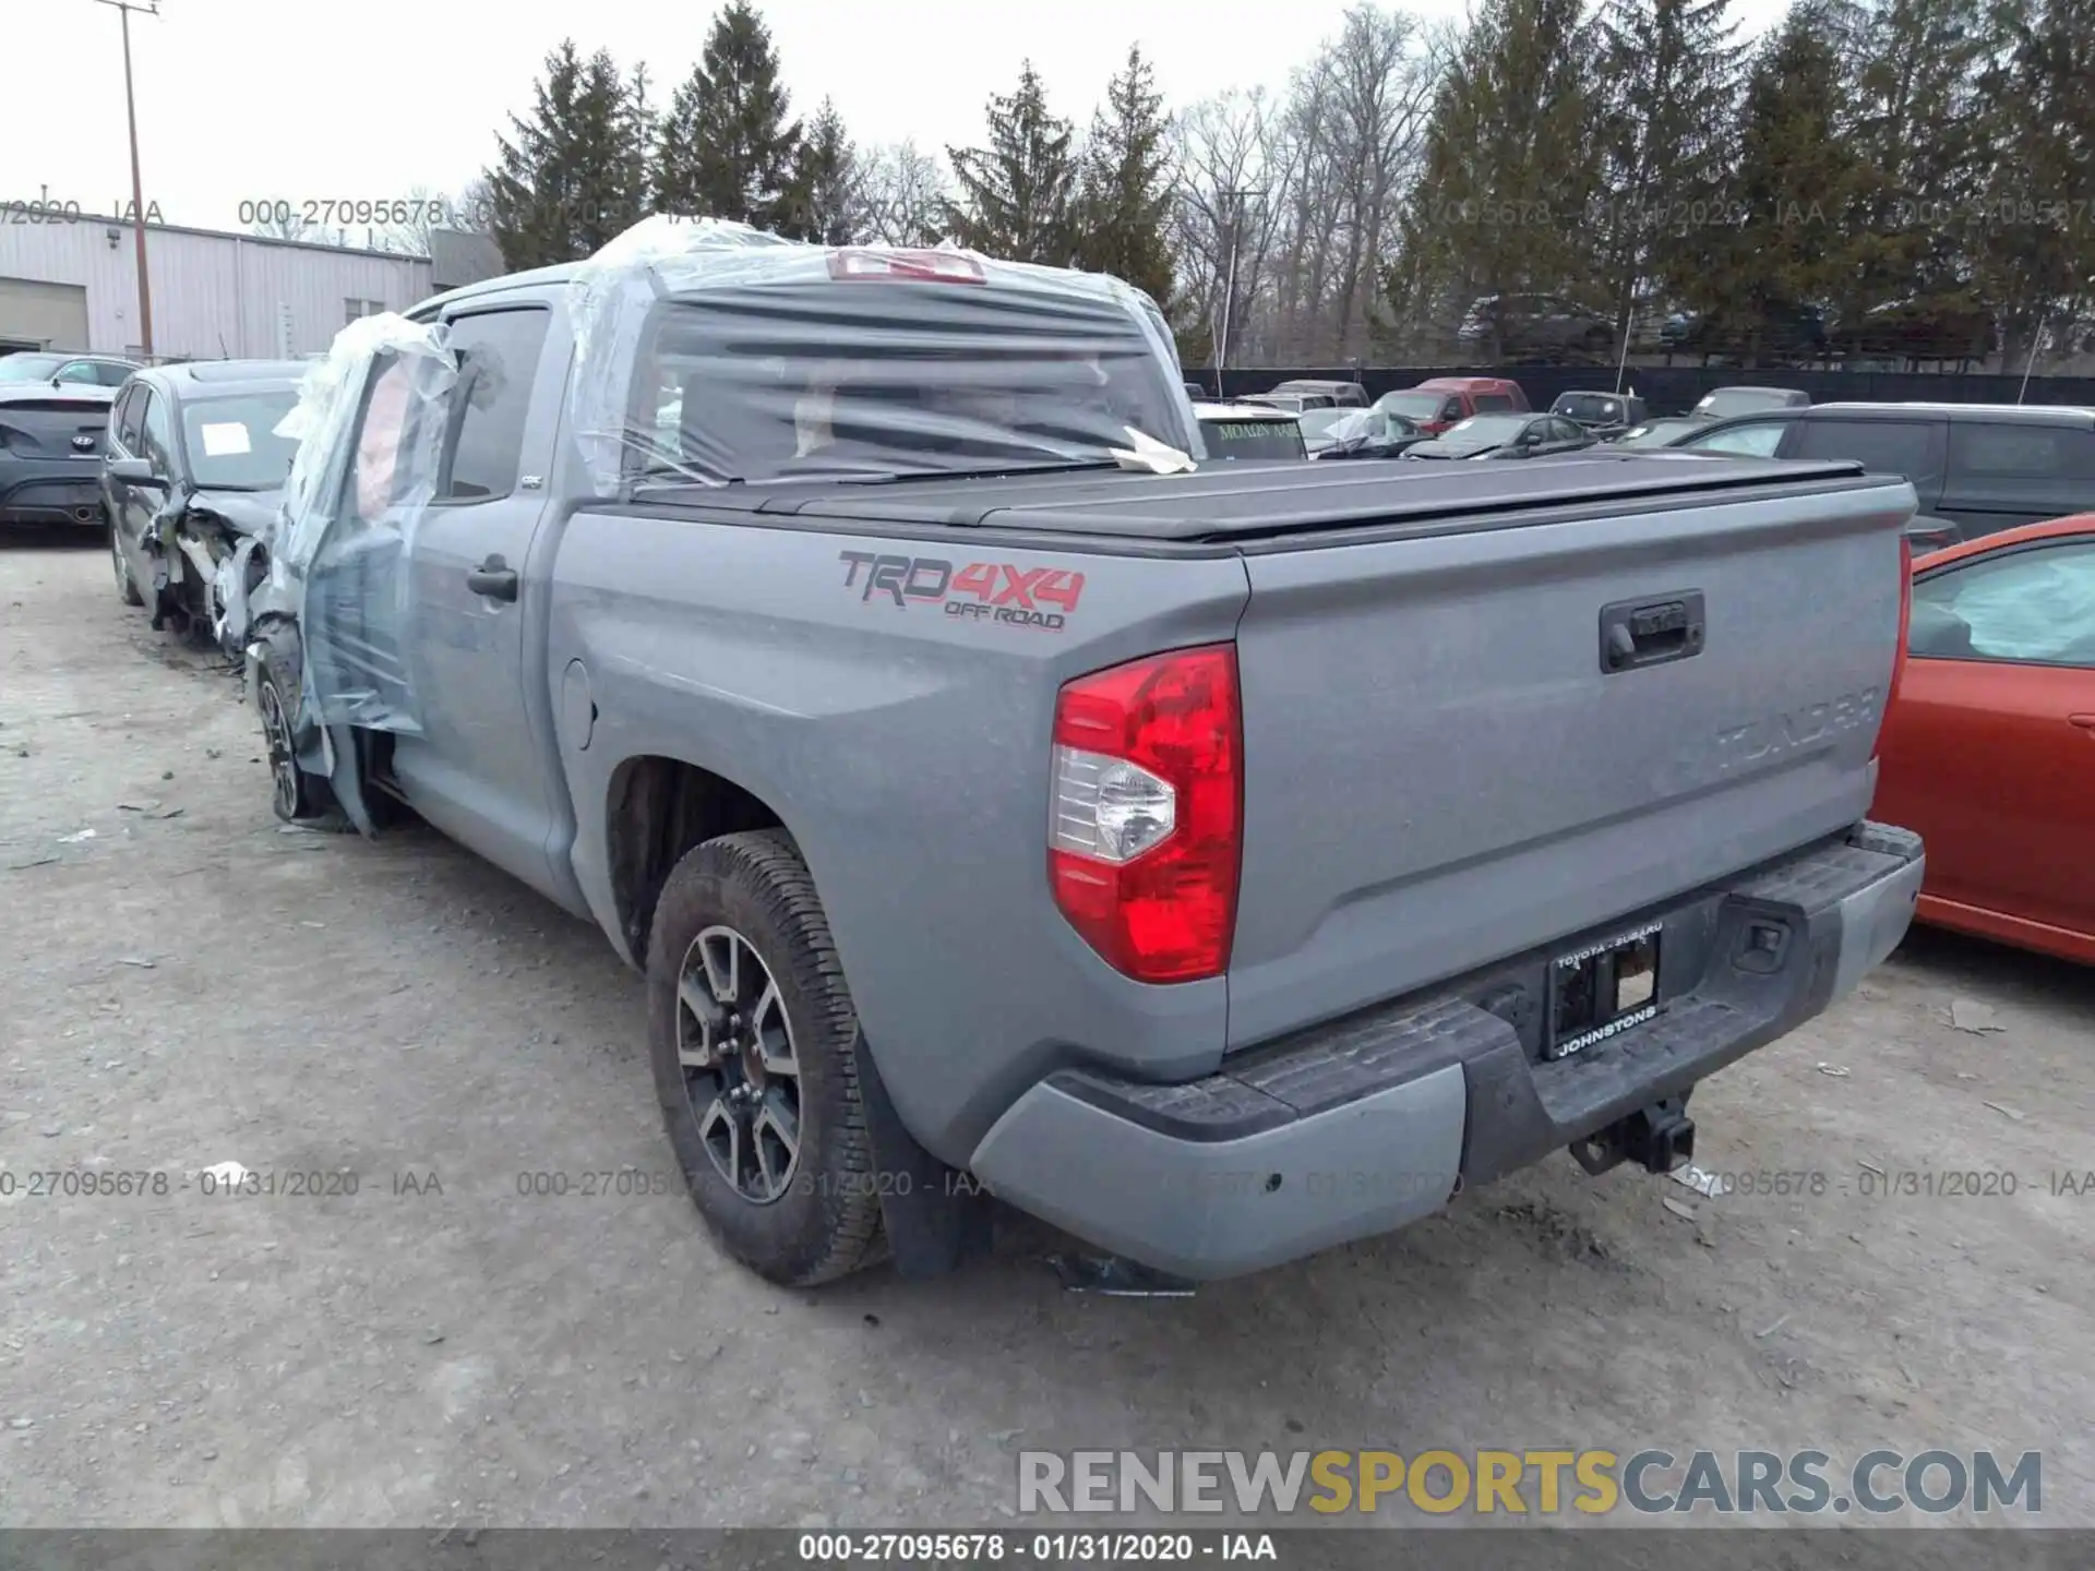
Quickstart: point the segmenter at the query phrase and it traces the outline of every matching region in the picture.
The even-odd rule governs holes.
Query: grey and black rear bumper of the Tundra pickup
[[[1865,823],[1431,995],[1232,1054],[1186,1085],[1060,1070],[970,1163],[1102,1248],[1226,1278],[1391,1232],[1793,1031],[1904,936],[1919,836]],[[1544,1060],[1554,955],[1663,922],[1659,1014]]]

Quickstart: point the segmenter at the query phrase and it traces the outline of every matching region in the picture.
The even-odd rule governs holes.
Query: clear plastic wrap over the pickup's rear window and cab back
[[[597,494],[1200,455],[1138,289],[955,247],[804,245],[658,216],[582,262],[570,429]]]

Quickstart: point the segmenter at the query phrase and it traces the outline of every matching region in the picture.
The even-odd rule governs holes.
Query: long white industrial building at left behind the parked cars
[[[138,249],[128,222],[0,222],[0,352],[140,354]],[[499,274],[484,235],[438,230],[434,258],[210,228],[147,224],[155,358],[289,358],[325,350],[346,320],[406,310]]]

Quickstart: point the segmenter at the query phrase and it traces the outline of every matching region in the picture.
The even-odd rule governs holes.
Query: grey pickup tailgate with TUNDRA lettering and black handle
[[[1913,490],[1749,496],[1247,557],[1232,1047],[1865,817]]]

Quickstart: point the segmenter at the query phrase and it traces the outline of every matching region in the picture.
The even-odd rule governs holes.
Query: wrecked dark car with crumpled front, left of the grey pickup
[[[277,513],[297,442],[300,360],[199,360],[136,373],[109,419],[103,501],[117,593],[153,626],[212,626],[220,568]],[[262,563],[251,561],[249,576]],[[251,587],[251,584],[247,584]]]

